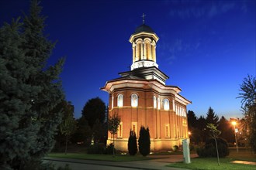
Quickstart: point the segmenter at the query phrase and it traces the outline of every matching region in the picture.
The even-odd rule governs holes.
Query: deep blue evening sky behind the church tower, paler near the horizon
[[[61,73],[75,117],[92,97],[108,103],[99,90],[117,73],[130,70],[128,41],[137,26],[146,24],[160,37],[157,63],[170,76],[168,85],[182,88],[188,110],[199,117],[213,107],[219,116],[242,117],[240,83],[255,76],[255,1],[83,1],[43,0],[46,33],[58,40],[50,58],[66,56]],[[0,23],[28,12],[29,0],[0,0]]]

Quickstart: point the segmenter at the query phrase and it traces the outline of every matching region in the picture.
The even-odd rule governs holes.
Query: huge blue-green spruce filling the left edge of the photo
[[[54,146],[64,98],[59,74],[64,59],[47,66],[54,43],[43,34],[45,17],[31,2],[22,22],[0,29],[0,168],[37,169]]]

